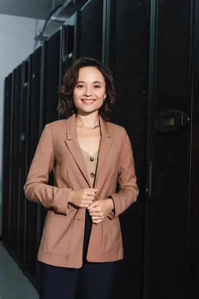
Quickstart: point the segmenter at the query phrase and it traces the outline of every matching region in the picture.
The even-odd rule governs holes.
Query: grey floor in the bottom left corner
[[[39,295],[0,243],[0,299],[39,299]]]

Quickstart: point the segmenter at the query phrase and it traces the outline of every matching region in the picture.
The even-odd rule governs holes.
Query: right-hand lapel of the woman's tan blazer
[[[96,180],[99,176],[99,172],[101,169],[101,166],[103,164],[103,161],[110,149],[110,146],[112,144],[112,138],[110,137],[110,133],[108,130],[108,126],[106,122],[99,116],[100,120],[100,131],[101,131],[101,139],[100,139],[100,148],[99,148],[99,154],[98,154],[98,165],[97,165],[97,175]]]

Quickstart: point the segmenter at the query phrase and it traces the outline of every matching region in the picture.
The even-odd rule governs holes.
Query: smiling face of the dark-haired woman
[[[105,97],[105,81],[101,72],[95,67],[81,68],[73,92],[78,113],[90,114],[99,110]]]

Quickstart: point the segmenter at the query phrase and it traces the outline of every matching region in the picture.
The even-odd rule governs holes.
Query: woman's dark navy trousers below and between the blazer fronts
[[[83,245],[83,266],[70,269],[41,263],[40,299],[110,299],[117,262],[89,263],[86,260],[92,220],[86,212]]]

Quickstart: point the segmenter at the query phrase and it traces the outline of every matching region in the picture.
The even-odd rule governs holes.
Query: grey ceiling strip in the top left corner
[[[47,19],[56,7],[65,0],[0,0],[0,13],[30,18]]]

